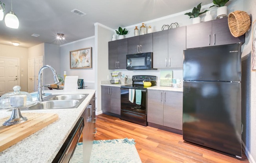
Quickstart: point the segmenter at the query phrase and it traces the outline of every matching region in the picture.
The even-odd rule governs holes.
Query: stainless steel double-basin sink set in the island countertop
[[[89,94],[54,94],[43,98],[44,101],[20,110],[73,109],[79,107]]]

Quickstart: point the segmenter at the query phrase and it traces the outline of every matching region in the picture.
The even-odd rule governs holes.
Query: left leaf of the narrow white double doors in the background
[[[35,58],[27,60],[27,76],[28,92],[31,93],[35,90]]]

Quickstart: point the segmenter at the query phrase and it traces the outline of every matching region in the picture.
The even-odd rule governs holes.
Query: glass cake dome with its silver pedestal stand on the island
[[[16,85],[13,87],[13,92],[6,93],[0,97],[0,110],[13,109],[11,118],[3,123],[5,126],[16,125],[27,121],[27,118],[21,115],[19,108],[37,103],[37,101],[33,101],[31,94],[20,91],[20,88],[19,85]]]

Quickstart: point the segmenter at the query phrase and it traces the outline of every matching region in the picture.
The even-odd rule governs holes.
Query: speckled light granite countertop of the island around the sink
[[[94,89],[78,89],[77,91],[64,92],[63,90],[48,90],[51,94],[89,94],[86,99],[75,109],[32,110],[22,112],[49,112],[57,113],[59,120],[35,132],[15,145],[0,152],[0,162],[3,163],[51,163],[59,149],[82,115],[90,102]],[[11,112],[0,111],[0,118],[10,117]],[[2,125],[2,124],[0,124]]]

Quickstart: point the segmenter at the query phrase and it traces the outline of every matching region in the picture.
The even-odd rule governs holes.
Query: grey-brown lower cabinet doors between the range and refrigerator
[[[183,92],[148,90],[148,122],[182,130]]]

